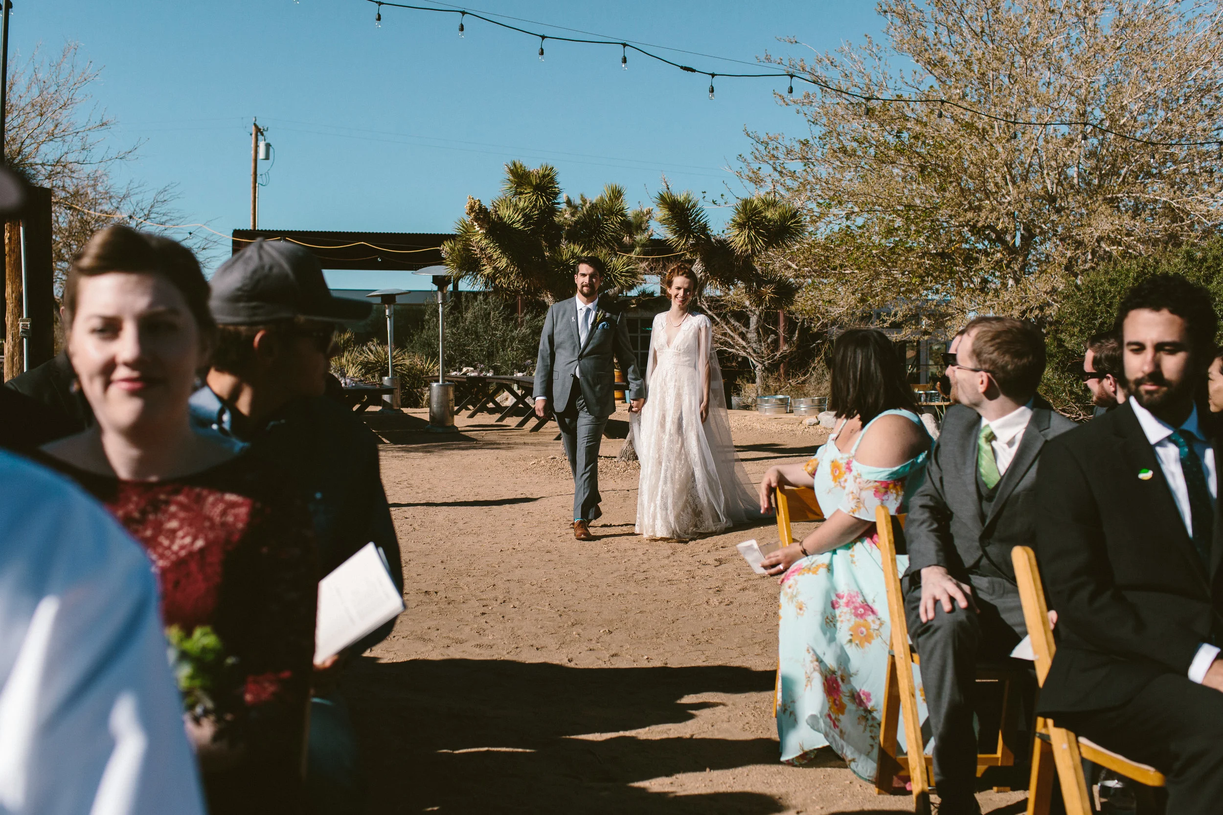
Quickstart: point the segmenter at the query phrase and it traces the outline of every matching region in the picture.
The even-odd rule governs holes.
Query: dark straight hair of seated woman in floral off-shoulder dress
[[[833,385],[828,407],[866,424],[884,411],[917,412],[905,367],[892,340],[874,329],[850,329],[833,343]]]

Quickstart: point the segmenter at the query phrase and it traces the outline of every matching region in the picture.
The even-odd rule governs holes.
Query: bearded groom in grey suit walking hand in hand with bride
[[[615,412],[613,356],[629,378],[629,409],[641,411],[646,385],[629,345],[629,329],[613,304],[599,299],[603,261],[577,259],[577,296],[548,309],[536,363],[536,414],[556,415],[565,457],[574,472],[574,538],[594,540],[589,523],[599,518],[599,441]]]

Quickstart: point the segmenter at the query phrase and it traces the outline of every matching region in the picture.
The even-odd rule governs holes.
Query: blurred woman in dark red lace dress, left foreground
[[[192,430],[215,325],[191,252],[114,226],[64,287],[97,425],[43,447],[153,561],[209,810],[300,809],[317,574],[309,517],[248,455]]]

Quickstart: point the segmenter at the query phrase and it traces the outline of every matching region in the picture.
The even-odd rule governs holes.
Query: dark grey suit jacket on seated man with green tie
[[[1032,546],[1036,540],[1036,521],[1041,514],[1036,506],[1036,463],[1044,442],[1074,429],[1075,423],[1037,396],[1032,418],[988,510],[976,480],[980,428],[976,411],[963,404],[948,408],[926,464],[925,480],[909,499],[906,577],[927,566],[942,566],[956,579],[967,582],[971,574],[992,566],[1014,583],[1011,547]]]

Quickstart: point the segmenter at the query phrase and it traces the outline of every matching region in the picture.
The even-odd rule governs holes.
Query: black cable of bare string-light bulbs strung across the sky
[[[790,71],[759,71],[759,72],[753,72],[753,73],[722,73],[719,71],[706,71],[703,68],[695,68],[695,67],[692,67],[690,65],[682,65],[680,62],[675,62],[673,60],[667,59],[665,56],[660,56],[658,54],[648,51],[645,48],[641,48],[641,45],[636,44],[634,40],[629,40],[629,39],[623,39],[623,40],[616,40],[616,39],[588,39],[588,38],[581,38],[581,37],[560,37],[560,35],[555,35],[555,34],[545,34],[543,32],[534,32],[534,31],[528,31],[526,28],[520,28],[519,26],[512,26],[510,23],[501,22],[500,20],[493,20],[492,17],[487,17],[487,16],[479,13],[479,12],[468,11],[468,10],[461,9],[461,7],[438,9],[435,6],[416,6],[416,5],[410,5],[410,4],[405,4],[405,2],[388,2],[386,0],[366,0],[366,2],[372,2],[372,4],[374,4],[378,7],[378,10],[375,12],[374,22],[379,27],[382,26],[382,9],[383,9],[383,6],[386,6],[386,7],[390,7],[390,9],[406,9],[406,10],[410,10],[410,11],[433,11],[433,12],[444,13],[444,15],[459,15],[459,34],[460,35],[462,35],[464,32],[465,32],[465,24],[464,23],[465,23],[465,21],[466,21],[467,17],[473,17],[476,20],[481,20],[483,22],[487,22],[487,23],[490,23],[493,26],[498,26],[500,28],[505,28],[505,29],[509,29],[509,31],[512,31],[512,32],[517,32],[520,34],[526,34],[527,37],[537,38],[539,40],[539,59],[541,60],[543,60],[543,57],[544,57],[544,43],[547,40],[549,40],[549,39],[556,40],[559,43],[578,43],[578,44],[583,44],[583,45],[613,45],[613,46],[619,46],[621,49],[621,51],[620,51],[620,65],[624,66],[625,68],[629,67],[629,51],[631,50],[631,51],[635,51],[637,54],[641,54],[642,56],[647,56],[647,57],[649,57],[652,60],[656,60],[658,62],[668,65],[668,66],[670,66],[673,68],[679,68],[680,71],[684,71],[686,73],[698,73],[698,75],[703,75],[703,76],[709,77],[709,99],[714,98],[713,81],[715,78],[718,78],[718,77],[734,78],[734,79],[764,79],[764,78],[768,78],[768,79],[783,79],[783,78],[785,78],[785,79],[789,79],[789,86],[786,88],[786,93],[788,94],[793,94],[794,93],[794,83],[795,83],[795,81],[797,81],[797,82],[805,82],[805,83],[807,83],[810,86],[815,86],[815,87],[817,87],[817,88],[819,88],[822,90],[827,90],[828,93],[839,94],[841,97],[846,97],[846,98],[854,99],[855,101],[861,101],[863,104],[867,104],[867,112],[870,112],[870,103],[872,103],[872,101],[881,103],[881,104],[887,104],[887,105],[939,105],[940,108],[943,108],[943,106],[945,106],[945,108],[953,108],[953,109],[964,111],[966,114],[970,114],[972,116],[980,116],[982,119],[987,119],[987,120],[996,121],[996,122],[1002,122],[1002,123],[1005,123],[1005,125],[1013,125],[1013,126],[1016,126],[1016,127],[1077,127],[1077,128],[1091,128],[1091,130],[1093,130],[1093,131],[1096,131],[1098,133],[1106,134],[1106,136],[1114,136],[1117,138],[1126,139],[1126,141],[1130,141],[1130,142],[1136,142],[1139,144],[1146,144],[1148,147],[1218,147],[1221,149],[1221,153],[1223,153],[1223,139],[1219,139],[1219,138],[1202,139],[1202,141],[1196,141],[1196,142],[1194,142],[1194,141],[1190,141],[1190,142],[1172,142],[1172,141],[1161,141],[1161,139],[1144,138],[1141,136],[1131,136],[1130,133],[1123,133],[1120,131],[1114,131],[1114,130],[1112,130],[1109,127],[1106,127],[1104,125],[1101,125],[1099,122],[1092,122],[1092,121],[1086,121],[1086,120],[1084,120],[1084,121],[1080,121],[1080,120],[1035,121],[1035,120],[1025,120],[1025,119],[1011,119],[1009,116],[1000,116],[998,114],[991,114],[991,112],[985,111],[985,110],[977,110],[976,108],[966,105],[966,104],[964,104],[961,101],[958,101],[955,99],[947,99],[944,97],[911,97],[910,98],[910,97],[904,97],[904,95],[901,95],[899,93],[893,93],[890,95],[876,95],[876,94],[871,94],[871,93],[859,93],[856,90],[848,90],[845,88],[838,88],[835,86],[828,84],[827,82],[822,82],[822,81],[812,78],[810,76],[805,76],[802,73],[795,73],[795,72],[790,72]],[[449,5],[449,4],[446,4],[446,5]],[[488,13],[493,13],[493,12],[488,12]],[[525,21],[525,20],[521,20],[521,18],[517,18],[517,17],[506,17],[506,18],[508,20],[517,20],[520,22],[532,22],[533,24],[547,26],[547,27],[553,28],[553,29],[578,32],[578,29],[565,28],[564,26],[554,26],[552,23]],[[581,33],[581,32],[578,32],[578,33]],[[651,48],[665,49],[665,50],[669,50],[669,51],[680,51],[680,53],[685,53],[685,54],[697,54],[696,51],[684,51],[682,49],[674,49],[674,48],[669,48],[669,46],[665,46],[665,45],[651,45]],[[740,62],[740,64],[742,64],[742,60],[733,60],[730,57],[713,56],[713,55],[709,55],[709,54],[698,54],[698,55],[700,56],[706,56],[708,59],[725,60],[728,62]],[[942,116],[942,111],[939,111],[939,115]]]

